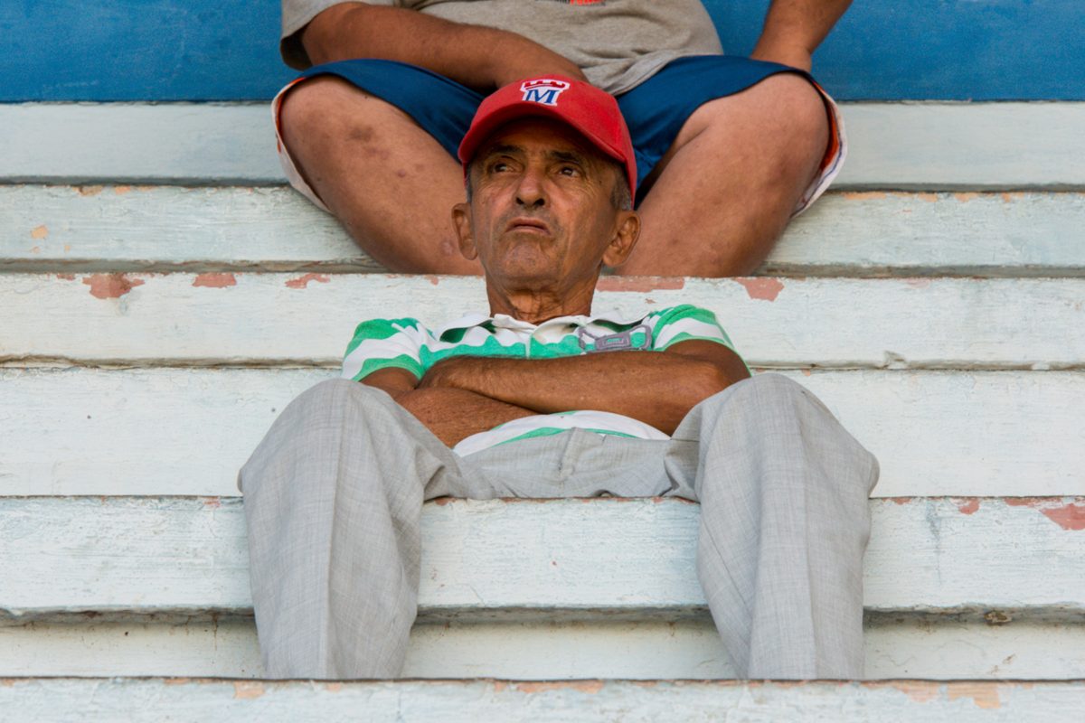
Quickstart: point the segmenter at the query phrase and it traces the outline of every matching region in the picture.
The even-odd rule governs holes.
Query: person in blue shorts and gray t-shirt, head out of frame
[[[843,163],[808,72],[850,3],[774,0],[748,59],[723,54],[701,0],[283,0],[282,56],[305,73],[273,105],[280,159],[388,269],[480,273],[448,222],[478,103],[526,77],[587,79],[636,151],[643,228],[618,272],[745,274]]]

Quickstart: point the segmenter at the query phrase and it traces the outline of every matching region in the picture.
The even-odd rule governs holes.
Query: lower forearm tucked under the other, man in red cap
[[[393,393],[400,406],[448,447],[535,412],[463,389],[427,388]]]

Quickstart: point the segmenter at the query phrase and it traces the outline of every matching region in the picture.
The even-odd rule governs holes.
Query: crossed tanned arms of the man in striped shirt
[[[449,447],[533,414],[599,410],[672,434],[701,400],[749,377],[738,354],[712,341],[666,351],[611,351],[560,359],[454,357],[422,379],[384,369],[362,379],[388,392]]]

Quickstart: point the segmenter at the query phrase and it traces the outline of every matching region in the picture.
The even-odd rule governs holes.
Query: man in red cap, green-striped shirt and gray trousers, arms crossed
[[[697,569],[740,675],[861,676],[875,459],[799,385],[750,378],[711,312],[591,314],[639,232],[613,98],[513,83],[460,158],[489,314],[361,323],[348,378],[292,402],[241,472],[267,672],[399,673],[425,500],[611,494],[700,501]]]

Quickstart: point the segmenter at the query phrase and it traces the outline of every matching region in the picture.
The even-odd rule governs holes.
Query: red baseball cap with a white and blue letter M
[[[617,101],[590,83],[559,75],[511,82],[482,102],[460,142],[463,172],[490,133],[511,120],[531,116],[572,126],[603,154],[621,162],[629,181],[629,195],[636,195],[637,159]]]

